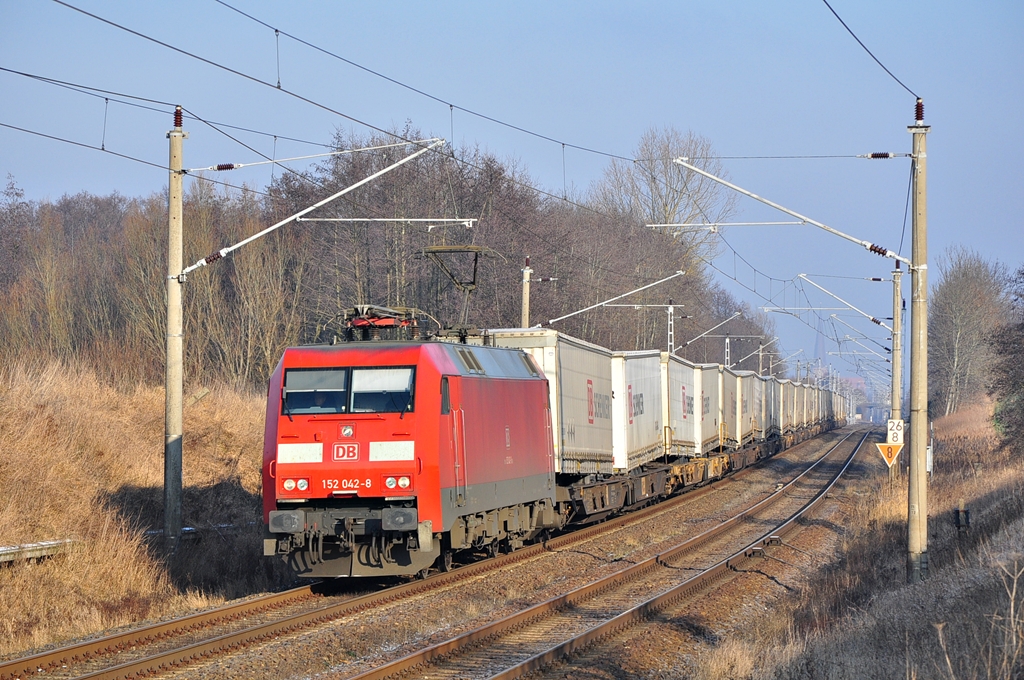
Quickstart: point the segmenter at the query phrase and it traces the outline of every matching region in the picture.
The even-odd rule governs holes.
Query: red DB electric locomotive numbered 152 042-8
[[[451,566],[560,519],[548,382],[517,349],[288,349],[270,378],[264,554],[302,577]]]

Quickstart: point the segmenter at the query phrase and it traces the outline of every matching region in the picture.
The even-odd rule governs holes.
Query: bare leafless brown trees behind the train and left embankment
[[[417,138],[407,127],[401,135]],[[382,135],[342,136],[339,150],[379,146]],[[187,183],[185,262],[237,243],[408,154],[404,147],[332,157],[308,172],[288,172],[265,192]],[[582,309],[663,279],[684,277],[555,325],[615,349],[665,348],[673,299],[677,343],[724,321],[735,335],[772,336],[763,314],[738,303],[708,275],[708,231],[674,233],[650,223],[716,221],[732,212],[717,184],[671,164],[702,158],[722,174],[710,143],[653,130],[636,162],[612,163],[585,194],[555,198],[527,172],[477,147],[426,154],[309,216],[472,218],[474,228],[427,229],[415,222],[299,222],[191,272],[184,286],[186,380],[261,386],[285,347],[330,341],[344,309],[359,304],[413,307],[451,327],[465,298],[428,258],[429,246],[480,246],[477,286],[466,316],[479,328],[520,325],[521,269],[557,282],[531,287],[534,324]],[[8,177],[0,197],[0,355],[5,363],[55,356],[84,362],[119,382],[163,376],[167,196],[66,195],[26,200]],[[444,256],[470,277],[469,257]],[[663,306],[644,306],[663,305]],[[756,348],[756,343],[754,347]],[[679,352],[721,362],[721,341]],[[742,354],[748,353],[743,351]],[[740,354],[740,355],[742,355]],[[733,348],[734,357],[737,357]],[[737,368],[757,369],[755,354]],[[779,367],[776,373],[784,371]]]

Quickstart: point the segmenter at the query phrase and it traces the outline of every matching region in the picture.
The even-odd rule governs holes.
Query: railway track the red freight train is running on
[[[795,450],[791,450],[794,452]],[[772,459],[775,460],[775,459]],[[296,588],[209,611],[183,617],[116,635],[90,640],[43,653],[0,663],[0,680],[29,678],[90,678],[115,680],[160,674],[189,664],[238,650],[274,637],[386,603],[457,585],[507,567],[511,563],[559,551],[595,537],[647,521],[703,495],[741,481],[758,468],[740,470],[712,484],[688,492],[629,515],[527,546],[514,553],[475,562],[422,581],[354,597],[324,597],[317,586]]]

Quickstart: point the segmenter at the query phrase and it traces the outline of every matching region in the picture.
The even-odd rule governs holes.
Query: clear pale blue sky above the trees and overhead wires
[[[72,0],[82,9],[276,84],[273,32],[213,0]],[[674,126],[724,157],[907,153],[914,97],[887,75],[823,2],[231,2],[282,31],[434,96],[569,144],[630,156],[641,133]],[[963,244],[1011,268],[1024,264],[1021,213],[1024,4],[998,0],[831,0],[908,88],[924,97],[929,157],[929,250]],[[404,122],[459,144],[514,158],[542,186],[585,190],[606,158],[456,111],[337,59],[280,39],[280,78],[297,92],[372,125]],[[0,67],[181,103],[212,121],[326,142],[367,128],[175,53],[48,0],[0,0]],[[166,164],[167,107],[159,112],[0,72],[0,123]],[[113,98],[113,97],[112,97]],[[104,131],[105,108],[105,131]],[[186,124],[185,166],[259,160],[199,123]],[[278,158],[316,147],[238,133]],[[727,160],[732,181],[804,215],[896,250],[908,161]],[[146,196],[166,171],[0,127],[0,174],[29,199],[119,192]],[[261,186],[262,166],[218,178]],[[0,177],[2,179],[2,177]],[[741,200],[735,219],[788,219]],[[909,225],[903,253],[909,254]],[[735,227],[719,266],[755,274],[883,277],[891,261],[813,227]],[[535,268],[543,263],[535,263]],[[753,293],[719,280],[754,306]],[[758,275],[758,290],[769,286]],[[877,316],[882,284],[818,279]],[[810,290],[810,287],[805,286]],[[909,297],[909,285],[904,288]],[[815,305],[837,306],[823,296]],[[792,302],[791,302],[792,303]],[[830,312],[827,312],[830,313]],[[871,333],[870,324],[847,321]],[[813,353],[814,333],[779,315],[787,350]],[[697,330],[699,331],[699,330]],[[685,333],[685,332],[684,332]],[[883,337],[885,334],[874,334]],[[887,343],[886,343],[887,344]],[[825,347],[826,350],[835,346]],[[842,362],[837,368],[846,369]]]

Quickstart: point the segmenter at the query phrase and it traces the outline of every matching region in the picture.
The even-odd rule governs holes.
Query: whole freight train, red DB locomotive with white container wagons
[[[846,421],[815,385],[547,329],[287,349],[263,552],[300,577],[425,575],[717,479]]]

